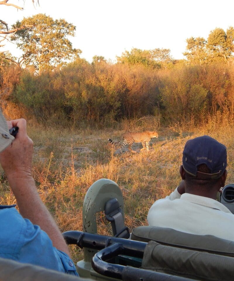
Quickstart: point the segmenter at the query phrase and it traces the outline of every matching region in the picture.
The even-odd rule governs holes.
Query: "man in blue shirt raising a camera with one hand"
[[[9,129],[18,127],[16,138]],[[0,205],[0,257],[77,275],[56,222],[40,199],[32,178],[33,143],[25,119],[6,121],[0,111],[0,163],[15,206]]]

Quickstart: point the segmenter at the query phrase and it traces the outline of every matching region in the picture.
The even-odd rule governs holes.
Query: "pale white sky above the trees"
[[[23,0],[9,0],[19,6]],[[207,39],[216,27],[225,31],[234,26],[234,1],[231,0],[39,0],[36,9],[25,0],[25,10],[0,6],[0,19],[9,27],[16,20],[45,13],[54,19],[64,18],[76,26],[71,37],[73,48],[82,50],[80,57],[92,61],[94,55],[115,61],[132,48],[171,50],[174,59],[183,59],[185,40]],[[8,43],[5,49],[15,56],[21,51]],[[3,49],[1,48],[1,51]]]

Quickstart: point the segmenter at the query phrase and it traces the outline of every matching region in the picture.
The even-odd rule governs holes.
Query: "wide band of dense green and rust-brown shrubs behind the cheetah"
[[[43,123],[106,126],[146,115],[163,118],[166,124],[191,118],[198,123],[217,112],[229,114],[233,121],[233,78],[234,68],[228,64],[187,66],[183,62],[170,70],[152,70],[78,59],[41,75],[27,70],[13,72],[9,67],[1,73],[1,89],[9,84],[10,98]]]

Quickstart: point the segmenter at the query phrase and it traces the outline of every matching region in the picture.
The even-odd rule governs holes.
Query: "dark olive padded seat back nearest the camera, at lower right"
[[[142,268],[203,281],[233,281],[234,258],[149,241]]]

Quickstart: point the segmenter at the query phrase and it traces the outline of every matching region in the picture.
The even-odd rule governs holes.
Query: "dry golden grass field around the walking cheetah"
[[[141,130],[140,127],[136,129]],[[234,181],[233,126],[228,124],[225,116],[216,116],[199,128],[178,124],[159,128],[159,138],[152,140],[148,153],[116,154],[116,148],[107,139],[117,139],[122,132],[92,131],[89,128],[71,131],[68,128],[45,129],[29,125],[28,134],[35,146],[33,175],[42,200],[62,232],[82,230],[85,193],[94,181],[101,178],[111,179],[120,186],[125,200],[125,224],[130,230],[147,225],[147,212],[152,203],[167,196],[180,182],[179,167],[184,144],[196,136],[208,134],[227,146],[227,182]],[[133,146],[137,151],[139,148],[140,145]],[[1,204],[15,203],[3,172],[0,200]],[[97,220],[98,232],[111,234],[103,214],[97,216]],[[80,249],[71,247],[71,251],[74,261],[81,258]]]

